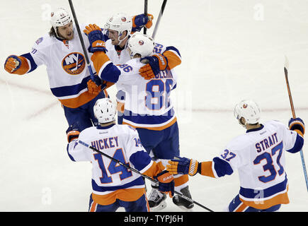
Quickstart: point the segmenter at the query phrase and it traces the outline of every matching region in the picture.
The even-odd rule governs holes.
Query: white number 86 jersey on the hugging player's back
[[[123,124],[135,128],[162,130],[176,122],[176,114],[170,99],[176,86],[176,73],[161,71],[155,78],[145,80],[139,75],[144,66],[140,59],[132,59],[118,66],[118,82],[125,90]]]

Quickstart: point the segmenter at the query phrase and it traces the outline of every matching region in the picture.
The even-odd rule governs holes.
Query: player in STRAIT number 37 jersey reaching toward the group
[[[198,162],[186,157],[169,161],[171,174],[197,173],[223,177],[238,169],[239,194],[229,203],[230,212],[271,212],[289,203],[285,151],[297,153],[304,144],[304,122],[290,119],[289,128],[279,121],[260,124],[256,102],[243,100],[234,108],[234,116],[247,131],[230,141],[212,161]]]

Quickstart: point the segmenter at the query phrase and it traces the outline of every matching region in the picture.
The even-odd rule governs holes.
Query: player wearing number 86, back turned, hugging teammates
[[[156,48],[158,46],[161,48]],[[168,68],[149,80],[139,75],[139,70],[145,66],[140,61],[141,57],[151,61],[155,55],[162,58],[166,65],[164,57],[153,54],[161,52],[164,46],[154,43],[154,40],[147,35],[140,33],[132,35],[128,40],[127,49],[134,59],[119,66],[115,66],[102,51],[95,52],[91,60],[103,81],[118,83],[125,91],[123,124],[129,124],[137,129],[142,145],[148,153],[152,151],[154,157],[159,160],[170,160],[179,155],[178,124],[170,101],[171,90],[176,87],[176,73],[174,69]],[[191,198],[188,176],[178,175],[174,181],[176,191]],[[154,186],[149,198],[150,207],[166,207],[164,199],[166,196],[160,194]],[[173,197],[173,203],[186,209],[193,208],[193,203],[179,196]]]

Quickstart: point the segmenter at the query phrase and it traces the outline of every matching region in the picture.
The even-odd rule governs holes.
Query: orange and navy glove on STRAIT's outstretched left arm
[[[166,169],[171,174],[189,174],[194,176],[198,172],[199,162],[197,160],[190,160],[187,157],[176,157],[168,161],[169,165]]]

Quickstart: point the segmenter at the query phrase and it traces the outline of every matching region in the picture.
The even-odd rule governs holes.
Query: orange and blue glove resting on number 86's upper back
[[[144,61],[144,59],[147,59],[149,63],[142,66],[139,69],[139,73],[145,79],[154,78],[159,74],[159,71],[166,70],[168,66],[168,59],[161,54],[155,54],[152,57],[144,57],[140,59],[140,61]]]

